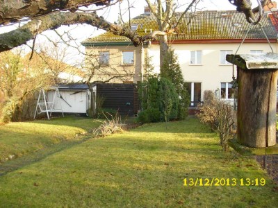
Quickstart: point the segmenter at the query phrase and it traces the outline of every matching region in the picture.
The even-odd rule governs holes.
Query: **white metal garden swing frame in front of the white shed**
[[[47,101],[47,96],[45,95],[44,89],[40,89],[37,105],[35,107],[34,119],[37,114],[41,114],[44,112],[47,113],[47,119],[49,119],[49,116],[51,116],[52,112],[62,112],[64,116],[64,111],[63,111],[62,104],[60,103],[60,99],[58,99],[58,102],[60,104],[60,109],[55,109],[56,97],[60,98],[59,89],[58,88],[52,88],[52,89],[55,89],[55,92],[51,102]]]

